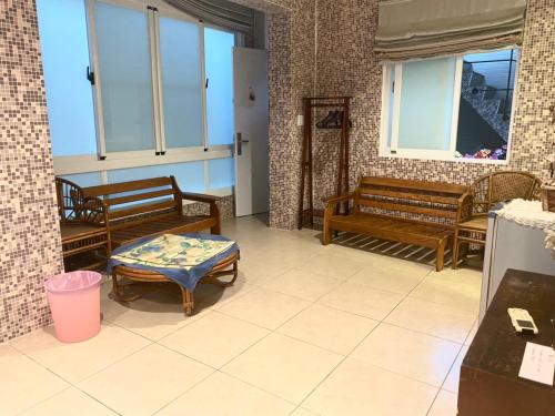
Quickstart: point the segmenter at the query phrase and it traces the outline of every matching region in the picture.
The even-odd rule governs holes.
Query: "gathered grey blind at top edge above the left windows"
[[[254,11],[248,7],[225,0],[165,0],[165,2],[199,18],[233,31],[251,34]]]

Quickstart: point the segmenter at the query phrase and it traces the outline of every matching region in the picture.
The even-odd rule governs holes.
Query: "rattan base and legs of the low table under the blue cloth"
[[[232,286],[233,283],[235,283],[235,280],[238,278],[238,261],[239,261],[239,250],[229,255],[228,257],[223,258],[219,263],[216,263],[212,270],[204,275],[199,283],[203,284],[213,284],[220,287],[229,287]],[[220,277],[231,275],[232,278],[229,282],[221,281]],[[129,283],[121,285],[118,282],[118,276],[119,277],[127,277],[131,281],[134,281],[135,283]],[[134,294],[131,296],[125,296],[123,295],[122,291],[125,288],[129,288],[130,286],[134,286],[138,283],[144,283],[144,282],[150,282],[150,283],[173,283],[172,280],[165,277],[161,273],[155,273],[151,271],[145,271],[145,270],[140,270],[140,268],[134,268],[130,266],[124,266],[124,265],[118,265],[114,266],[112,270],[112,284],[113,284],[113,295],[117,301],[120,302],[132,302],[137,301],[138,298],[142,297],[142,294]],[[182,304],[183,304],[183,311],[185,312],[185,315],[191,315],[194,308],[194,297],[193,293],[189,291],[188,288],[183,287],[182,285],[178,285],[181,288],[181,295],[182,295]]]

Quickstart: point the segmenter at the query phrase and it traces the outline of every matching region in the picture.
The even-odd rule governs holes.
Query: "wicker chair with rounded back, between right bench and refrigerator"
[[[471,185],[472,214],[467,221],[461,222],[455,231],[453,268],[457,267],[462,244],[466,247],[470,244],[485,245],[487,213],[492,207],[500,202],[515,199],[537,200],[541,185],[538,177],[519,171],[500,171],[478,177]]]

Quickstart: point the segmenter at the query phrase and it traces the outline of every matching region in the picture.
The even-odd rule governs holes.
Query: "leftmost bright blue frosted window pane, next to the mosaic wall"
[[[37,0],[54,156],[97,153],[83,0]]]

